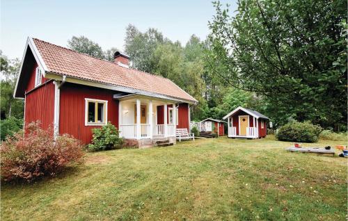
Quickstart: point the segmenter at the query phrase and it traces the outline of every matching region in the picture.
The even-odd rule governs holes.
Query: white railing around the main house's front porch
[[[150,137],[150,124],[140,124],[140,138]],[[167,133],[165,133],[164,124],[153,125],[152,136],[175,136],[175,124],[167,124]],[[120,136],[127,139],[136,139],[136,124],[120,124]]]

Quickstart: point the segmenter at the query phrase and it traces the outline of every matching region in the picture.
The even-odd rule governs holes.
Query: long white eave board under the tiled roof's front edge
[[[61,81],[63,79],[62,75],[55,74],[52,72],[46,73],[46,77],[49,79],[55,79],[55,80],[59,80],[59,81]],[[143,95],[146,97],[155,97],[158,99],[165,99],[168,101],[176,101],[176,102],[182,102],[182,103],[188,103],[188,104],[195,104],[195,102],[189,101],[189,100],[176,99],[174,97],[168,97],[166,95],[159,95],[159,94],[155,94],[155,93],[151,93],[151,92],[146,92],[143,90],[138,90],[138,89],[134,89],[134,88],[126,88],[126,87],[116,86],[116,85],[110,85],[110,84],[106,84],[106,83],[98,83],[95,81],[79,79],[77,77],[72,77],[72,76],[66,76],[65,81],[70,82],[70,83],[77,83],[77,84],[81,84],[81,85],[88,85],[88,86],[92,86],[92,87],[96,87],[96,88],[104,88],[104,89],[109,89],[109,90],[117,90],[120,92],[128,92],[128,93],[132,93],[132,94],[136,94],[136,95]]]

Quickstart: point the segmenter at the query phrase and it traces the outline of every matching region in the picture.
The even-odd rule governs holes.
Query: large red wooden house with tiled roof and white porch
[[[175,140],[189,131],[190,105],[197,101],[164,77],[129,68],[120,52],[114,62],[28,38],[14,97],[25,99],[24,122],[54,125],[90,142],[92,129],[111,122],[127,139]]]

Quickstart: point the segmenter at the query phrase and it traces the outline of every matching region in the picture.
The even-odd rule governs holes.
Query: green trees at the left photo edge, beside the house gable
[[[15,90],[15,83],[19,72],[19,59],[10,60],[7,56],[2,54],[0,50],[1,61],[1,82],[0,82],[0,110],[1,119],[6,117],[23,118],[24,101],[22,99],[15,99],[13,91]]]

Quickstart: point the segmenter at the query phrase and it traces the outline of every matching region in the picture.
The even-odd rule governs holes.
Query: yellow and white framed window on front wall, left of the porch
[[[85,125],[105,125],[107,122],[108,101],[86,98]]]

